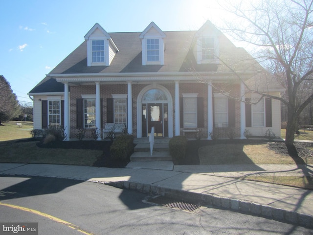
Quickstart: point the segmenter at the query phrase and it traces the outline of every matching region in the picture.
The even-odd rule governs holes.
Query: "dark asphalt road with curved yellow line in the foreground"
[[[0,177],[0,222],[38,222],[40,235],[313,235],[248,214],[206,207],[186,212],[144,199],[147,195],[137,191],[91,182]]]

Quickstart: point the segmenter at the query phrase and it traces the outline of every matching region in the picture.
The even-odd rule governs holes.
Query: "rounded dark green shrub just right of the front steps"
[[[169,141],[169,150],[173,159],[184,159],[187,151],[187,138],[175,136]]]

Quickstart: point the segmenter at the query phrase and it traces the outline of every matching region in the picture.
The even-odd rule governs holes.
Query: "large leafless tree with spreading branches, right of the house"
[[[235,18],[222,31],[252,45],[253,57],[286,88],[273,96],[247,87],[287,106],[285,143],[293,146],[298,118],[313,100],[313,0],[229,0],[223,8]]]

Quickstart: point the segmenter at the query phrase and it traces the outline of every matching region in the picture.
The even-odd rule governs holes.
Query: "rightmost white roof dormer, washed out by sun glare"
[[[218,64],[220,55],[220,31],[209,21],[202,25],[195,35],[194,54],[197,64]]]

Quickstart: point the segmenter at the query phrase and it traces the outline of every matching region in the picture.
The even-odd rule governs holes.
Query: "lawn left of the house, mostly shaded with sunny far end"
[[[21,122],[23,127],[17,126]],[[92,166],[102,155],[100,150],[41,148],[38,141],[28,139],[33,129],[32,122],[9,121],[0,125],[0,163],[42,163]]]

